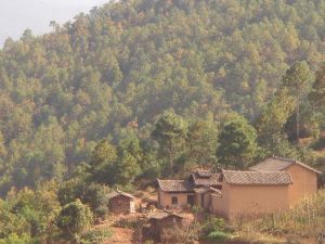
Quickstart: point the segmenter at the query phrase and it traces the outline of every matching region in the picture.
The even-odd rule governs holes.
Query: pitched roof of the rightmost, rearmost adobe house
[[[266,158],[265,160],[263,160],[262,163],[250,167],[250,170],[255,170],[255,171],[282,171],[285,170],[286,168],[290,167],[291,165],[300,165],[303,168],[307,168],[311,171],[314,171],[316,174],[322,174],[321,171],[304,165],[298,160],[294,160],[294,159],[289,159],[289,158],[283,158],[283,157],[270,157]]]

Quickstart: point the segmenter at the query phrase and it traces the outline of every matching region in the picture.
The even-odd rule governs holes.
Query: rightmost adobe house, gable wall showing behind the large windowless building
[[[321,171],[302,164],[298,160],[270,157],[262,163],[250,167],[255,171],[285,171],[288,172],[294,181],[289,185],[289,204],[295,205],[300,198],[311,195],[317,191],[317,177]]]

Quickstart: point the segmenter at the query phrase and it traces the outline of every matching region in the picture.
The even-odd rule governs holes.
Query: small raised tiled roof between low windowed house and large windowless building
[[[211,174],[209,170],[196,170],[191,177],[195,187],[221,185],[220,174]]]

